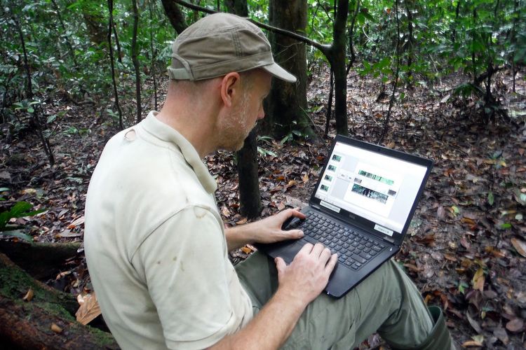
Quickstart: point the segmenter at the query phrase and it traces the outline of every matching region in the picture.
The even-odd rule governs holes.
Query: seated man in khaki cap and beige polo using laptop
[[[377,330],[400,349],[451,346],[440,310],[433,321],[395,262],[339,300],[321,295],[337,263],[321,244],[290,265],[256,252],[234,269],[229,250],[302,237],[281,225],[304,216],[224,229],[201,160],[241,148],[271,77],[295,77],[261,30],[228,14],[180,34],[168,72],[163,109],[108,142],[86,200],[88,269],[123,349],[352,349]]]

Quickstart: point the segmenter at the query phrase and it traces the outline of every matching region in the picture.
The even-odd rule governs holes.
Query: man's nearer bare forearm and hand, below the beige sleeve
[[[210,349],[278,349],[290,336],[299,316],[328,283],[337,262],[322,244],[305,244],[290,265],[276,258],[276,294],[252,321]]]

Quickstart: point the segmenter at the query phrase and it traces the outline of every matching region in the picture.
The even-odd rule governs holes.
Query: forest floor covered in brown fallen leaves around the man
[[[455,341],[470,348],[526,347],[526,83],[525,71],[511,92],[511,74],[500,72],[494,93],[514,123],[487,120],[473,98],[452,96],[452,87],[467,77],[451,76],[434,85],[405,90],[393,106],[384,146],[434,161],[433,171],[396,260],[417,284],[428,304],[445,310]],[[348,87],[350,136],[376,143],[389,106],[389,87],[379,97],[377,78],[351,71]],[[309,83],[309,116],[319,134],[325,129],[328,71],[315,71]],[[161,94],[163,94],[161,92]],[[379,97],[379,98],[378,98]],[[114,120],[88,100],[55,97],[44,106],[56,115],[50,137],[53,167],[34,134],[23,130],[3,141],[0,187],[8,208],[25,200],[46,209],[15,222],[26,225],[34,241],[81,241],[83,207],[90,175],[105,142],[116,132]],[[145,110],[151,109],[147,106]],[[5,139],[6,128],[2,125]],[[262,216],[305,203],[334,137],[322,142],[259,140]],[[225,223],[242,225],[238,180],[232,153],[205,159],[217,176],[217,203]],[[234,262],[253,250],[231,253]],[[28,257],[30,258],[30,257]],[[38,262],[35,262],[38,263]],[[76,295],[90,292],[83,249],[50,271],[47,282]],[[372,336],[360,349],[386,347]]]

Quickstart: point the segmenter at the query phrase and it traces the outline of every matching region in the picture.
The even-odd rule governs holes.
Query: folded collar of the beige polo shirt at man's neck
[[[140,124],[144,130],[157,139],[170,142],[170,144],[177,146],[177,148],[180,149],[184,160],[186,160],[190,167],[194,169],[199,182],[201,182],[201,186],[205,188],[206,192],[214,193],[217,189],[217,183],[212,175],[210,175],[210,172],[208,172],[208,168],[204,165],[201,158],[199,158],[194,146],[192,146],[190,142],[173,127],[170,127],[157,119],[157,113],[159,112],[151,111],[148,116],[142,120]]]

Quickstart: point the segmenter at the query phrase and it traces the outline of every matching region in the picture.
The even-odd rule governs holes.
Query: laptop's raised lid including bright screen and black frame
[[[431,160],[337,135],[309,204],[400,246]]]

